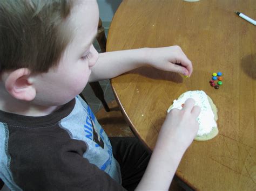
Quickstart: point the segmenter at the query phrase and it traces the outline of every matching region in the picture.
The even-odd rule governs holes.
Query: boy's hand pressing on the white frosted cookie
[[[183,109],[172,109],[167,114],[158,139],[164,140],[164,144],[177,144],[180,150],[185,152],[196,137],[199,128],[197,117],[200,108],[194,106],[194,103],[192,98],[188,98]]]

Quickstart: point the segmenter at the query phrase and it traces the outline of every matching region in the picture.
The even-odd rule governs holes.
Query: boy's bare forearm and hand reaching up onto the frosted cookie
[[[136,190],[169,190],[187,147],[197,134],[200,108],[189,98],[181,110],[172,109],[158,135],[149,165]]]

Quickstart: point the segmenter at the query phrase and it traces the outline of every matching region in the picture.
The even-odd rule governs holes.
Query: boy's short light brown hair
[[[66,27],[70,0],[0,1],[0,74],[18,68],[32,73],[57,66],[71,41]]]

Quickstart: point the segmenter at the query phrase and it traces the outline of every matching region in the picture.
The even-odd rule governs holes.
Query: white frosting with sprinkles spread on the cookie
[[[214,120],[214,114],[212,107],[208,101],[207,95],[204,91],[187,91],[181,98],[173,101],[173,108],[182,109],[181,104],[185,103],[188,98],[193,98],[196,101],[195,105],[201,108],[200,115],[197,118],[199,123],[199,130],[197,136],[203,136],[212,131],[213,127],[217,127],[217,123]],[[171,110],[169,109],[168,112]]]

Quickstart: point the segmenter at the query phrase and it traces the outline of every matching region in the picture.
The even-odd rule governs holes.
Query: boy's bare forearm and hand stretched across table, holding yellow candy
[[[146,65],[188,76],[193,70],[191,61],[179,46],[130,49],[99,54],[89,82],[111,79]]]

